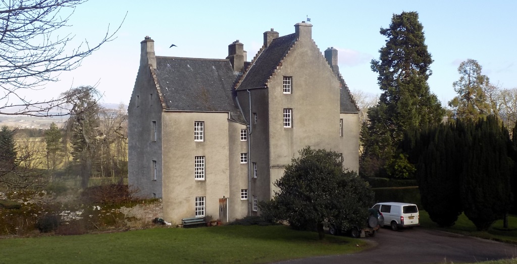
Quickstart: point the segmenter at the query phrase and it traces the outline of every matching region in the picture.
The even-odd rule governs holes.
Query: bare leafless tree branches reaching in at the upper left
[[[0,2],[0,114],[68,115],[77,98],[72,92],[32,100],[25,89],[44,89],[59,73],[73,70],[100,46],[115,39],[120,28],[93,45],[87,40],[70,48],[75,35],[59,36],[75,8],[87,0],[2,0]],[[123,21],[124,22],[124,21]],[[94,87],[92,87],[94,88]],[[77,91],[77,90],[75,90]],[[51,112],[52,111],[52,112]]]

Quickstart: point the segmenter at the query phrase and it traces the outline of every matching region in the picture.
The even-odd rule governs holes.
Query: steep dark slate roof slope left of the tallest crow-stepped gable
[[[253,61],[237,89],[265,87],[269,77],[295,42],[295,33],[273,39],[268,48]]]

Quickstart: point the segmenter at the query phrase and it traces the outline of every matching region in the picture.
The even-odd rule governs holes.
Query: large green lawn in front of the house
[[[111,234],[0,240],[0,263],[267,263],[348,254],[366,241],[286,226],[152,228]]]

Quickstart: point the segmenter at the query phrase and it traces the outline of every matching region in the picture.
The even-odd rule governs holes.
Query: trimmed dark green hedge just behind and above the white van
[[[393,201],[416,204],[419,210],[424,210],[420,201],[420,191],[418,190],[418,186],[372,188],[372,190],[375,192],[375,203]]]

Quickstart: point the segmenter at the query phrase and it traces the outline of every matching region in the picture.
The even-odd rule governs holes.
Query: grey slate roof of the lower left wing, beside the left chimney
[[[246,122],[232,96],[240,74],[229,60],[156,56],[156,76],[166,111],[230,112]]]

